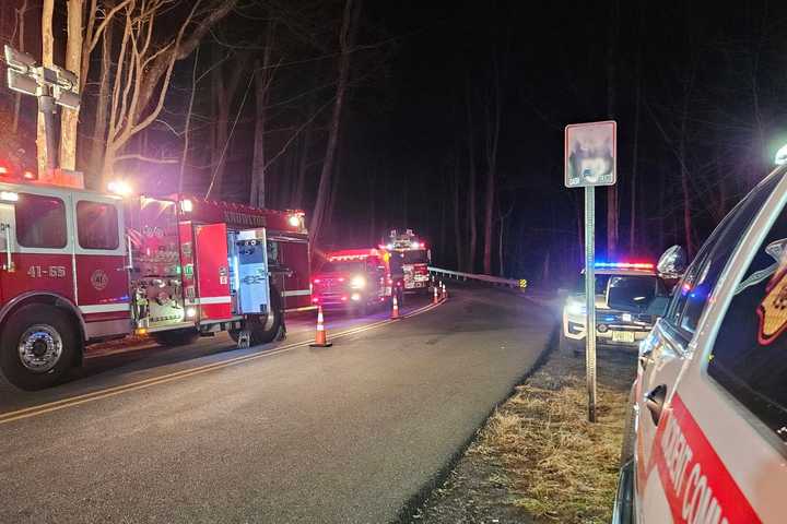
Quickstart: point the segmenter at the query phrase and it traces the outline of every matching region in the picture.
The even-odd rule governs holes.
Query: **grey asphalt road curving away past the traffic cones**
[[[0,522],[396,521],[553,320],[497,289],[386,317],[329,317],[331,348],[298,345],[304,321],[279,345],[142,348],[46,392],[0,389]]]

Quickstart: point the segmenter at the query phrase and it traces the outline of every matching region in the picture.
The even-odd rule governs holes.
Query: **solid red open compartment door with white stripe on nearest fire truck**
[[[232,317],[225,224],[195,226],[197,303],[200,320]]]

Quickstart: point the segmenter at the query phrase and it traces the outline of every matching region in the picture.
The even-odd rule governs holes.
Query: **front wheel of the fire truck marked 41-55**
[[[12,313],[0,334],[0,368],[16,388],[43,390],[68,374],[80,350],[79,330],[67,313],[31,303]]]

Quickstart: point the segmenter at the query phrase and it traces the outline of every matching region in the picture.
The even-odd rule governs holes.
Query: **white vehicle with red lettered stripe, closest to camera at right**
[[[684,267],[639,346],[615,523],[787,522],[787,166]],[[610,305],[618,303],[614,294]]]

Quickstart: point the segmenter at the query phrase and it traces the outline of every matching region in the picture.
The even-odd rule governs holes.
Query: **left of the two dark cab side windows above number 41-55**
[[[16,241],[24,248],[61,249],[68,243],[66,205],[55,196],[20,193]]]

